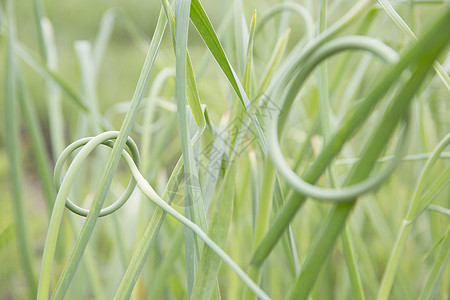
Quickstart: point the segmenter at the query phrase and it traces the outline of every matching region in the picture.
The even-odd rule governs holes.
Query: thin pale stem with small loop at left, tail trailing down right
[[[39,289],[38,289],[38,299],[47,299],[48,291],[50,286],[50,274],[51,274],[51,265],[55,253],[56,241],[59,231],[59,225],[61,223],[62,214],[64,211],[64,205],[73,212],[84,215],[89,213],[88,210],[84,210],[82,208],[71,207],[70,201],[67,201],[67,195],[70,190],[70,185],[76,175],[77,170],[79,169],[81,163],[86,159],[86,157],[99,145],[105,144],[107,146],[112,147],[113,143],[110,141],[111,139],[117,138],[119,132],[117,131],[109,131],[104,132],[102,134],[97,135],[96,137],[89,137],[80,139],[75,141],[71,145],[69,145],[61,154],[58,159],[57,166],[55,169],[55,184],[59,187],[58,195],[56,197],[55,206],[53,208],[52,218],[50,220],[49,231],[47,233],[47,239],[44,247],[44,254],[42,259],[42,270],[41,277],[39,279]],[[197,224],[193,223],[185,216],[177,212],[173,209],[168,203],[166,203],[152,188],[152,186],[148,183],[148,181],[143,177],[141,172],[139,171],[139,152],[134,141],[128,137],[127,146],[131,152],[123,151],[122,156],[125,159],[130,171],[132,173],[132,179],[130,180],[130,184],[128,187],[132,187],[131,192],[133,191],[136,184],[139,189],[157,206],[167,212],[169,215],[177,219],[183,225],[191,229],[197,236],[202,239],[206,245],[208,245],[226,264],[228,264],[231,269],[237,274],[239,278],[252,290],[255,294],[261,299],[270,299],[270,297],[253,281],[251,278],[236,264],[236,262],[222,249],[220,248]],[[77,154],[75,159],[72,161],[72,164],[69,166],[69,169],[64,176],[62,183],[59,184],[59,180],[61,177],[61,169],[64,164],[64,161],[67,157],[72,153],[75,149],[83,146],[82,150]],[[127,188],[128,190],[128,188]],[[131,193],[130,193],[131,194]],[[122,197],[118,201],[116,201],[111,206],[101,210],[103,215],[107,215],[113,213],[117,209],[119,209],[129,198],[126,196],[127,192],[123,194]],[[69,203],[69,204],[67,204]],[[73,204],[73,203],[72,203]]]

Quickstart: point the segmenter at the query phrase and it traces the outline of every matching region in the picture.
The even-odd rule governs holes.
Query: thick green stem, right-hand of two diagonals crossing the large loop
[[[434,59],[448,43],[450,32],[446,29],[449,26],[450,9],[438,19],[432,29],[415,45],[415,47],[412,47],[405,53],[402,60],[398,63],[398,65],[400,65],[402,64],[402,61],[409,61],[411,59],[410,55],[413,58],[417,57],[413,60],[414,62],[417,62],[413,65],[415,68],[412,70],[412,74],[414,75],[412,75],[411,79],[401,89],[395,101],[390,106],[390,109],[385,113],[375,133],[363,151],[361,161],[352,170],[345,185],[358,182],[369,175],[377,157],[384,149],[381,145],[384,145],[386,141],[389,140],[394,132],[397,122],[407,114],[414,93],[423,82]],[[314,245],[311,247],[302,271],[300,272],[300,276],[294,289],[290,293],[292,299],[306,299],[309,295],[321,266],[323,265],[323,261],[329,256],[334,248],[334,241],[341,232],[345,220],[353,206],[354,203],[342,203],[337,205],[330,213],[326,224],[323,226]]]

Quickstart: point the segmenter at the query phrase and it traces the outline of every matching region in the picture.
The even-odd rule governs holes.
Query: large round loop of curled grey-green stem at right
[[[395,158],[387,168],[385,168],[378,175],[368,178],[360,183],[339,189],[320,188],[313,184],[310,184],[300,178],[297,174],[295,174],[295,172],[288,166],[281,152],[278,137],[278,133],[283,132],[288,113],[284,113],[280,116],[281,112],[290,111],[293,100],[295,99],[294,94],[297,93],[308,75],[318,64],[320,64],[320,62],[334,54],[350,49],[371,52],[387,62],[393,62],[397,60],[398,57],[395,51],[373,38],[363,36],[348,36],[338,38],[330,42],[326,46],[319,48],[318,51],[311,55],[310,59],[305,62],[303,68],[293,80],[289,92],[284,102],[282,103],[282,109],[276,111],[274,113],[274,117],[269,120],[269,154],[275,168],[280,173],[280,175],[284,177],[287,183],[298,193],[319,201],[354,201],[354,199],[358,196],[375,189],[376,187],[381,185],[386,180],[386,178],[388,178],[389,175],[394,171],[395,167],[398,165],[403,154],[405,153],[407,147],[407,143],[404,142],[407,130],[404,130],[402,140],[399,141],[397,146]]]

